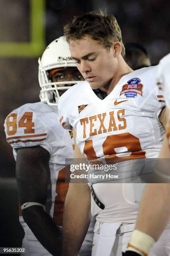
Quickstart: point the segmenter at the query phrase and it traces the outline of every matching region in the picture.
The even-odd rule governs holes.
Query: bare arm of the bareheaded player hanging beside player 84
[[[80,149],[76,145],[74,158],[82,159]],[[63,215],[63,256],[76,256],[89,228],[91,213],[91,192],[86,183],[70,183],[66,195]]]

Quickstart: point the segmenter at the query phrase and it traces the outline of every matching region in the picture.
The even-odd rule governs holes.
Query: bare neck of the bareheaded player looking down
[[[119,65],[117,65],[117,69],[114,72],[114,77],[107,81],[107,83],[100,88],[101,91],[106,92],[107,95],[112,92],[116,84],[119,82],[119,80],[126,74],[129,74],[133,72],[133,69],[131,69],[127,63],[124,61],[123,57],[121,56],[121,61],[119,61]]]

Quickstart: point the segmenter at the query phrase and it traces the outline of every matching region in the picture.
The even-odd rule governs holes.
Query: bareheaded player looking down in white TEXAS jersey
[[[132,164],[127,160],[155,158],[160,152],[165,104],[157,95],[157,67],[133,71],[127,65],[121,31],[113,15],[86,13],[74,17],[64,30],[71,57],[86,79],[67,90],[58,105],[62,126],[75,130],[74,157],[100,163],[115,159],[119,162],[117,173],[123,177]],[[99,168],[90,171],[97,174]],[[134,172],[140,171],[136,165]],[[140,177],[138,180],[140,183]],[[126,250],[145,184],[107,181],[89,179],[91,199],[88,184],[70,184],[63,220],[63,255],[79,252],[90,205],[97,220],[92,256],[120,256]],[[159,246],[164,251],[164,245]],[[151,255],[155,254],[151,251]]]

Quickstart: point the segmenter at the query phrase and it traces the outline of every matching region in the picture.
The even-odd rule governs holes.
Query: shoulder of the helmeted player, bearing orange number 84
[[[59,123],[55,110],[57,108],[51,108],[43,102],[27,103],[16,108],[5,119],[6,137],[8,140],[15,139],[15,142],[18,138],[35,142],[41,141],[39,137],[43,137],[44,140],[51,127]]]

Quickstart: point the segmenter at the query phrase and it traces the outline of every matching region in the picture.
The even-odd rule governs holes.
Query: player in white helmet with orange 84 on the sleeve
[[[57,104],[66,89],[84,79],[63,36],[49,44],[38,62],[41,102],[13,110],[5,119],[5,133],[16,160],[26,254],[60,255],[68,190],[65,158],[73,156],[73,143],[71,131],[60,125]]]

